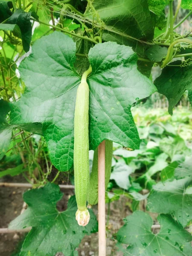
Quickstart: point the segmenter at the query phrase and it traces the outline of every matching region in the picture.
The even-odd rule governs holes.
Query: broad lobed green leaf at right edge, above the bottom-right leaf
[[[148,197],[148,210],[172,214],[185,227],[192,219],[192,195],[186,193],[191,184],[192,177],[186,177],[154,185]]]

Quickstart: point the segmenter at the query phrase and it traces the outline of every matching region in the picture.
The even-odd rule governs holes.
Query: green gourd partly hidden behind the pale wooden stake
[[[105,140],[105,190],[111,176],[111,162],[113,157],[113,142]],[[90,175],[89,191],[87,195],[89,205],[98,203],[98,147],[93,156],[93,167]]]

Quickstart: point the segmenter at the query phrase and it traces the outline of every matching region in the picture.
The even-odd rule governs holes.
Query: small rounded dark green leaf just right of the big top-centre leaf
[[[161,47],[157,44],[150,46],[146,51],[145,55],[150,61],[162,61],[163,57],[167,55],[167,47]]]

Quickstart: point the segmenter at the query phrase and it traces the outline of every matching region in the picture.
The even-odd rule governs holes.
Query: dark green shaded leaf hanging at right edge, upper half
[[[181,61],[172,62],[171,65],[180,65]],[[187,67],[163,68],[161,75],[155,79],[155,86],[159,93],[169,100],[169,113],[172,115],[173,108],[180,101],[184,91],[188,90],[189,101],[192,104],[192,65]]]

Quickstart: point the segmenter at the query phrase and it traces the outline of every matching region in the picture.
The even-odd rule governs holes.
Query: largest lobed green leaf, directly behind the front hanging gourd
[[[65,43],[64,43],[65,42]],[[54,45],[54,49],[52,48]],[[61,171],[73,165],[73,123],[80,76],[74,69],[76,44],[54,32],[39,39],[32,54],[21,63],[26,91],[12,104],[12,123],[42,124],[52,163]],[[156,89],[137,70],[137,55],[114,42],[90,49],[90,149],[108,139],[125,147],[139,148],[140,140],[131,105]]]

